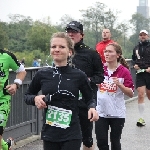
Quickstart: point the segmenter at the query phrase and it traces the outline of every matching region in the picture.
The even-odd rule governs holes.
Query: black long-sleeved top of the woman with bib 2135
[[[86,99],[86,107],[96,107],[86,74],[70,66],[42,68],[35,74],[25,93],[24,101],[26,104],[35,105],[34,98],[40,90],[43,95],[51,95],[50,105],[72,111],[70,127],[63,129],[45,123],[46,112],[48,111],[44,109],[44,124],[41,132],[42,140],[60,142],[81,139],[78,118],[79,90]]]

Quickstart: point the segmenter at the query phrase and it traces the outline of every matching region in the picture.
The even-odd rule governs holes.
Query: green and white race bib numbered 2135
[[[72,111],[48,105],[46,124],[66,129],[70,127]]]

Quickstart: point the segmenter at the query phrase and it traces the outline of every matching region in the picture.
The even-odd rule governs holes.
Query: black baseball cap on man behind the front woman
[[[83,25],[78,21],[71,21],[69,24],[67,24],[67,27],[65,30],[68,30],[68,29],[73,29],[78,32],[83,32]]]

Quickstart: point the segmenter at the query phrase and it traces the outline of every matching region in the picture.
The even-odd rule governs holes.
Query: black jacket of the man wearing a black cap
[[[96,84],[100,84],[104,80],[104,69],[101,58],[97,51],[85,45],[83,40],[76,43],[74,49],[75,56],[72,62],[76,68],[85,72],[90,79],[90,84],[96,99],[98,90]],[[83,97],[83,99],[85,98]],[[86,107],[86,105],[81,101],[79,102],[79,107]]]

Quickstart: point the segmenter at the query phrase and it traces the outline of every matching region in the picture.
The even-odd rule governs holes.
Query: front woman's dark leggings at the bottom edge
[[[80,139],[64,142],[43,141],[44,150],[80,150],[80,147]]]

